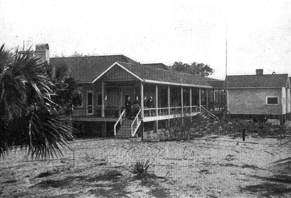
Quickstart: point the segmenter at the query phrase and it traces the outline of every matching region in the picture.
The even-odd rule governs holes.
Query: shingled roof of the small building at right
[[[227,88],[287,87],[288,74],[226,76]]]

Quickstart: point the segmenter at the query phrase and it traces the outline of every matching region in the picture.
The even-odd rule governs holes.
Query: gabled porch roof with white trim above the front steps
[[[105,69],[100,75],[98,75],[92,83],[106,75],[113,67],[120,67],[126,72],[136,77],[138,80],[147,83],[166,84],[166,85],[179,85],[187,87],[201,87],[211,88],[207,80],[199,75],[179,73],[172,70],[163,70],[153,67],[147,67],[139,63],[127,63],[121,61],[115,61],[111,66]]]

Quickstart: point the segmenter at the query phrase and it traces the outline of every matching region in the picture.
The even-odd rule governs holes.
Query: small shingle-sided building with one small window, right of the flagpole
[[[288,74],[226,76],[226,104],[230,114],[256,119],[291,120]]]

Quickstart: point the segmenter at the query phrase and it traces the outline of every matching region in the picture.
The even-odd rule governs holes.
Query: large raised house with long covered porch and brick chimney
[[[81,133],[135,137],[140,130],[142,136],[146,122],[157,130],[158,122],[210,113],[201,106],[201,92],[212,86],[199,75],[179,73],[162,63],[140,64],[124,55],[49,58],[48,44],[36,45],[35,54],[50,65],[65,63],[78,80],[82,103],[69,119]],[[140,100],[132,120],[125,118],[128,96]],[[149,97],[153,107],[146,107]]]

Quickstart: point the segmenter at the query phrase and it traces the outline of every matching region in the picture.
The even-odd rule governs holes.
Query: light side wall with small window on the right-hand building
[[[228,89],[228,110],[232,114],[282,114],[282,89]],[[266,105],[267,96],[277,96],[278,105]]]

